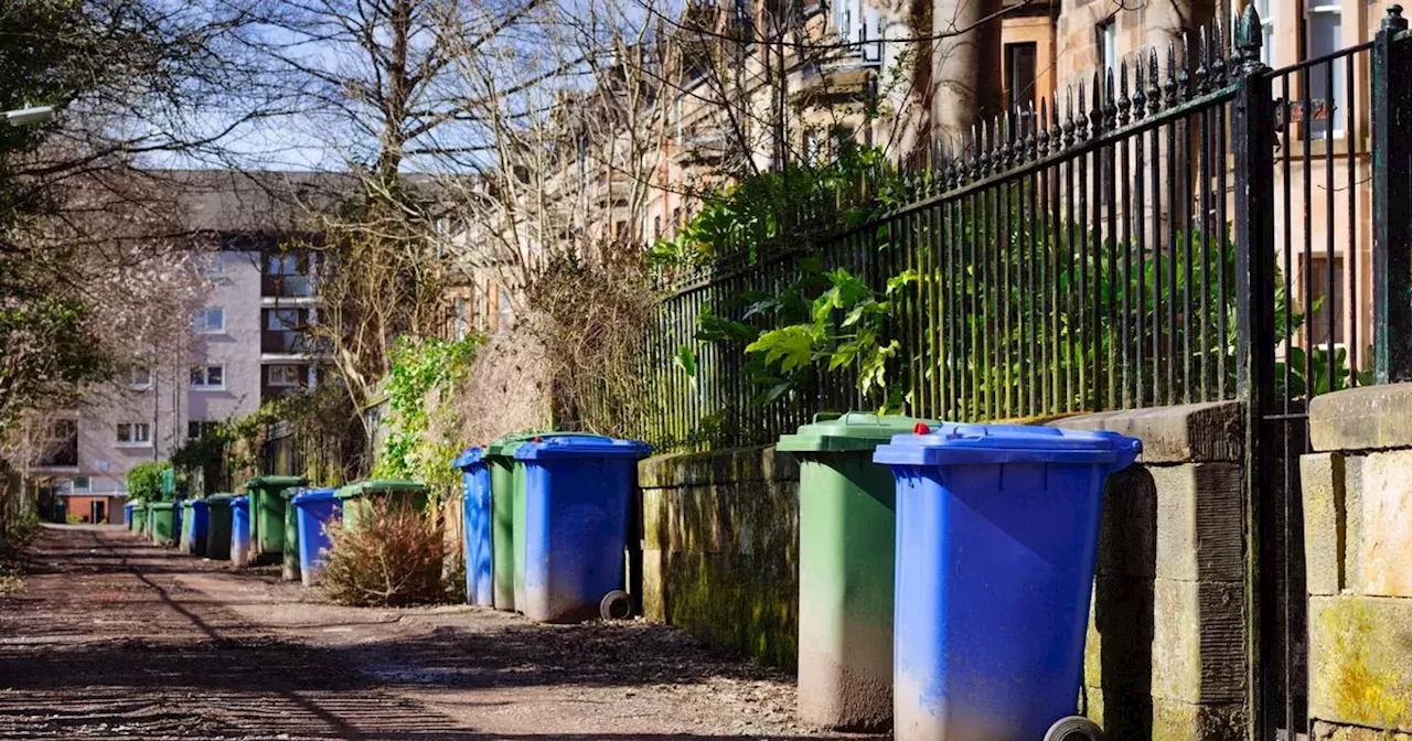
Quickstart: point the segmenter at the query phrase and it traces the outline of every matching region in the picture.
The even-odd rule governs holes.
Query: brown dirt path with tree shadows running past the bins
[[[114,528],[51,528],[0,598],[0,738],[860,738],[792,679],[641,622],[354,610]]]

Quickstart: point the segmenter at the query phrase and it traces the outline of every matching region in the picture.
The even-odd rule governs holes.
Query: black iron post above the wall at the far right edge
[[[1402,6],[1372,42],[1372,357],[1377,382],[1412,381],[1412,64]]]

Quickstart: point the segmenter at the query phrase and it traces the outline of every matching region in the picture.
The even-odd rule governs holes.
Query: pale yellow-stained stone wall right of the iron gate
[[[1412,384],[1317,397],[1309,435],[1312,738],[1412,741]]]

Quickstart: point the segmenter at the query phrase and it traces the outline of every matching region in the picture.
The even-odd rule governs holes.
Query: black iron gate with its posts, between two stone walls
[[[1412,378],[1412,147],[1396,135],[1412,124],[1412,41],[1401,10],[1388,8],[1372,42],[1282,69],[1255,61],[1252,7],[1237,32],[1237,391],[1248,402],[1247,542],[1258,543],[1247,555],[1257,741],[1310,733],[1299,481],[1309,399]]]

